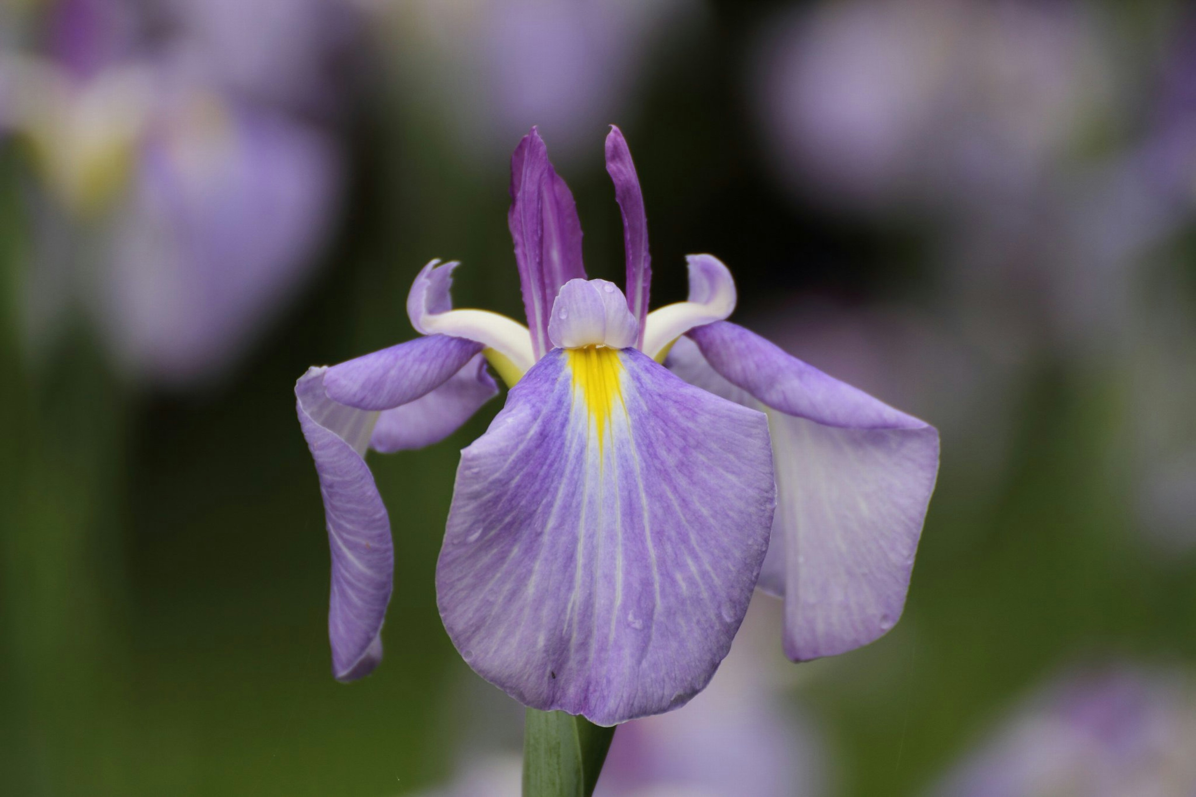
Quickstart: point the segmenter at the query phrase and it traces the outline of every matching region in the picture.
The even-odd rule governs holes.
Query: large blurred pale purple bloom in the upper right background
[[[795,188],[864,207],[1015,199],[1106,99],[1085,11],[848,0],[773,20],[756,65],[773,158]]]

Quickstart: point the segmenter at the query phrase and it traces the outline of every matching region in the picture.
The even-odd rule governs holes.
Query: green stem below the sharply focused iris
[[[563,711],[527,710],[524,797],[590,797],[598,785],[614,728]]]

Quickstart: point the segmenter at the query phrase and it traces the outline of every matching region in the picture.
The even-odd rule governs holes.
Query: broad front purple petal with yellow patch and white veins
[[[610,725],[676,708],[726,655],[775,488],[764,416],[636,349],[555,349],[462,452],[437,596],[469,664]]]

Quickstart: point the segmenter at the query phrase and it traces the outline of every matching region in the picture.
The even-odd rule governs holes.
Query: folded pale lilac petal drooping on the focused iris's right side
[[[721,322],[677,341],[687,382],[768,413],[777,511],[761,588],[783,595],[795,661],[853,650],[901,617],[939,466],[934,427]]]

